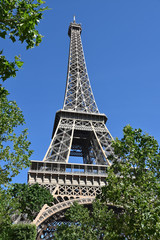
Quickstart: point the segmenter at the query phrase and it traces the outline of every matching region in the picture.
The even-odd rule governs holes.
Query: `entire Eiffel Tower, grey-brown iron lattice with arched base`
[[[70,49],[63,109],[56,112],[50,146],[43,161],[31,161],[28,183],[45,186],[54,196],[44,205],[34,223],[37,239],[53,239],[57,225],[74,201],[91,205],[105,185],[113,140],[106,128],[107,117],[99,113],[81,41],[81,24],[70,23]],[[71,163],[69,157],[83,159]]]

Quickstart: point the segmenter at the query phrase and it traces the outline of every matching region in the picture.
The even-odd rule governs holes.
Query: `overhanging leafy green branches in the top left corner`
[[[43,17],[42,0],[0,0],[0,37],[9,38],[13,43],[18,41],[26,43],[26,48],[38,46],[42,41],[42,35],[36,29]],[[18,68],[23,62],[19,56],[14,61],[9,61],[0,51],[0,78],[5,81],[9,77],[15,77]]]

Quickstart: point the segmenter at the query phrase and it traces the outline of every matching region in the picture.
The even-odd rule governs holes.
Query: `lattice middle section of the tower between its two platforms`
[[[110,165],[112,136],[102,121],[60,118],[43,161],[67,163],[69,156],[88,164]]]

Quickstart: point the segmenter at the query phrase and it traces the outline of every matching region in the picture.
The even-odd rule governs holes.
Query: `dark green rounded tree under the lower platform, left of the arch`
[[[23,214],[27,214],[27,219],[33,221],[37,213],[44,204],[53,202],[53,196],[50,191],[38,183],[33,185],[18,184],[12,185],[9,191],[11,197],[17,202],[17,209]]]

